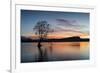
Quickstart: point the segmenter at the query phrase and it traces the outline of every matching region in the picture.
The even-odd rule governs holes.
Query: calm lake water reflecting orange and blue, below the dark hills
[[[21,43],[21,62],[40,62],[38,43]],[[48,42],[42,43],[43,60],[68,61],[89,59],[89,42]]]

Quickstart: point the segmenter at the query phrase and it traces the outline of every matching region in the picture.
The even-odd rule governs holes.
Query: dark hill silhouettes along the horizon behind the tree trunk
[[[21,42],[38,42],[39,39],[31,39],[28,37],[21,36]],[[87,42],[89,38],[80,38],[79,36],[73,36],[61,39],[43,39],[42,42]]]

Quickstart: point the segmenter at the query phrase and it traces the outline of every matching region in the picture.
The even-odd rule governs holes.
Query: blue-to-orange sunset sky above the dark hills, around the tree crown
[[[89,38],[89,13],[21,10],[21,35],[36,37],[33,27],[47,21],[54,32],[48,38]]]

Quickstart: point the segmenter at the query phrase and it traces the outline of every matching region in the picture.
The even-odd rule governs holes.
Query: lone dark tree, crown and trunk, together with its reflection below
[[[43,61],[43,51],[41,48],[41,42],[43,39],[47,38],[47,35],[49,32],[53,32],[53,30],[50,27],[50,24],[47,23],[47,21],[39,21],[37,22],[37,24],[34,26],[33,31],[35,32],[35,34],[38,36],[38,49],[39,49],[39,53],[40,53],[40,57],[39,57],[39,61]]]

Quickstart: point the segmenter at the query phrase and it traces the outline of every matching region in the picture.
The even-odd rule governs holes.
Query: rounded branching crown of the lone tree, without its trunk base
[[[40,40],[45,39],[48,35],[50,30],[50,24],[47,23],[47,21],[39,21],[33,28],[35,31],[35,34],[38,35],[38,38]]]

